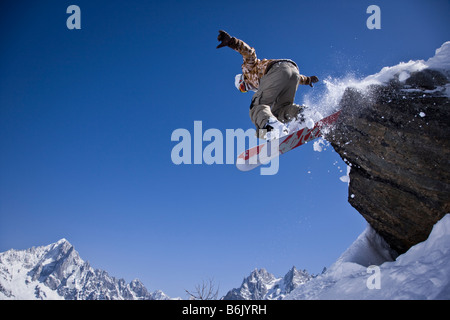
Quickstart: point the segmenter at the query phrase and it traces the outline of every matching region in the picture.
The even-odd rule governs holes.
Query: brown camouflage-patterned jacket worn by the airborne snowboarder
[[[259,87],[259,80],[267,73],[268,68],[274,63],[279,61],[291,61],[286,59],[263,59],[260,60],[256,57],[255,49],[250,47],[244,41],[232,37],[228,46],[239,52],[244,58],[242,64],[242,74],[244,75],[245,82],[255,89]],[[295,64],[295,62],[291,61]],[[297,66],[297,65],[296,65]],[[298,68],[298,67],[297,67]],[[309,77],[300,75],[299,84],[309,85],[311,80]]]

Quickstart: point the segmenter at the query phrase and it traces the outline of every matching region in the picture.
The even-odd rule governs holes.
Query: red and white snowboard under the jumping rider
[[[236,167],[241,171],[250,171],[262,164],[269,163],[292,149],[320,137],[324,129],[329,128],[339,118],[337,111],[315,123],[313,128],[301,128],[277,139],[267,141],[242,152],[236,161]]]

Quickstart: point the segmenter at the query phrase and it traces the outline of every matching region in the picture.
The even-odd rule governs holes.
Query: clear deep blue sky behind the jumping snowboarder
[[[66,27],[71,4],[81,30]],[[381,30],[366,27],[371,4]],[[172,163],[178,128],[252,127],[251,94],[234,88],[241,57],[215,48],[219,29],[320,79],[427,59],[450,40],[438,0],[0,6],[0,251],[64,237],[93,267],[183,298],[208,278],[225,294],[254,268],[319,273],[366,226],[331,147],[283,155],[274,176]]]

